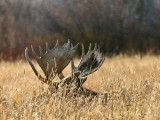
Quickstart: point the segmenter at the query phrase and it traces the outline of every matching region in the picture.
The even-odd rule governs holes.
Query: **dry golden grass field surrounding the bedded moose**
[[[69,73],[70,66],[64,70]],[[48,86],[36,78],[28,63],[2,61],[0,120],[160,120],[160,56],[106,58],[84,87],[107,92],[107,105],[100,98],[69,99],[60,92],[47,97]]]

